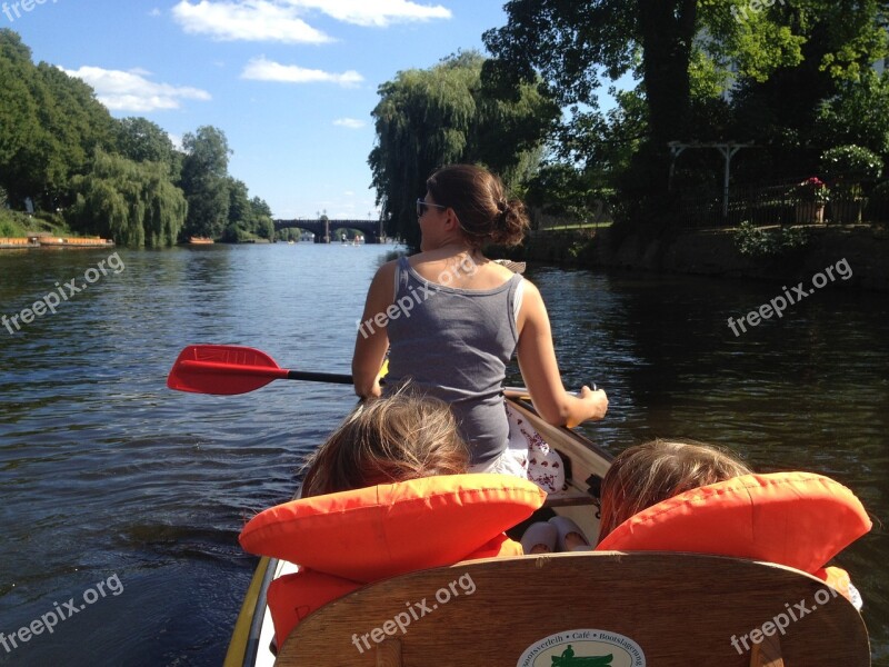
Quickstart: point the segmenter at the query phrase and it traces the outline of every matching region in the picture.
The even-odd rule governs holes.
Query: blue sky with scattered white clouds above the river
[[[0,0],[0,27],[34,62],[90,83],[114,117],[146,117],[174,139],[223,130],[229,173],[276,217],[364,219],[377,216],[367,158],[378,86],[482,50],[481,33],[506,23],[502,4]]]

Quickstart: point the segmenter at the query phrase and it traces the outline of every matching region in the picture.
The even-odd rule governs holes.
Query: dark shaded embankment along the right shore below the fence
[[[580,268],[788,281],[807,279],[846,259],[852,276],[841,285],[889,291],[889,230],[885,227],[811,226],[805,230],[808,235],[805,245],[761,257],[741,253],[735,229],[645,235],[615,227],[577,233],[536,233],[526,241],[520,255],[530,261]]]

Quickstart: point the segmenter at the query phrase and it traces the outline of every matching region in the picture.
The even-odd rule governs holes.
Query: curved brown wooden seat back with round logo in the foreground
[[[855,607],[799,570],[607,551],[477,560],[366,586],[306,618],[276,665],[858,667],[870,648]]]

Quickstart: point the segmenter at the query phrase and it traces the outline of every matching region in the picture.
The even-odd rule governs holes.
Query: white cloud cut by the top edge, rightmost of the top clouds
[[[450,19],[451,11],[441,4],[421,4],[410,0],[284,0],[299,9],[318,10],[356,26],[384,28],[392,23]]]

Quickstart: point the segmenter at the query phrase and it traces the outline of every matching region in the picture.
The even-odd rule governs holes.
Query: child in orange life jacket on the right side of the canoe
[[[689,497],[702,487],[711,488]],[[670,506],[673,498],[677,502]],[[652,510],[646,512],[648,508]],[[773,527],[780,529],[778,539]],[[827,581],[860,610],[861,595],[848,573],[825,566],[868,530],[861,502],[829,478],[755,475],[716,447],[656,439],[622,451],[602,479],[597,548],[780,563]]]

